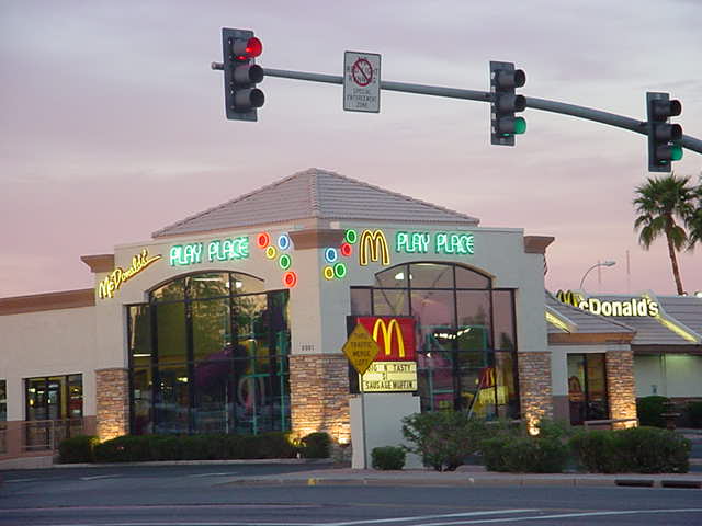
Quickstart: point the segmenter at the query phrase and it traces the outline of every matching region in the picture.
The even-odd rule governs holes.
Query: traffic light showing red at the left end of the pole
[[[224,56],[224,101],[227,118],[258,121],[256,108],[265,101],[256,84],[263,80],[263,68],[254,64],[263,52],[263,44],[252,31],[222,30]]]

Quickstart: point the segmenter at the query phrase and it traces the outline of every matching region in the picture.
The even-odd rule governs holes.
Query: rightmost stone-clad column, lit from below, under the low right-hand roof
[[[607,391],[610,401],[610,419],[636,418],[636,388],[634,385],[634,352],[609,351],[607,353]],[[614,428],[631,427],[633,423],[614,423]]]

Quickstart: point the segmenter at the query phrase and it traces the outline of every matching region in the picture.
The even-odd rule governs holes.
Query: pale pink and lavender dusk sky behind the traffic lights
[[[265,78],[257,123],[227,121],[222,27],[263,42],[263,68],[342,75],[344,50],[382,79],[489,90],[489,61],[526,96],[646,119],[646,91],[682,102],[702,138],[702,1],[0,0],[0,297],[93,285],[81,255],[151,232],[307,168],[445,206],[484,227],[554,236],[546,287],[675,294],[665,241],[637,242],[646,138],[526,110],[517,146],[490,146],[489,105],[383,91],[342,110],[340,85]],[[676,173],[693,182],[702,156]],[[629,264],[627,264],[629,254]],[[702,290],[702,247],[679,259]]]

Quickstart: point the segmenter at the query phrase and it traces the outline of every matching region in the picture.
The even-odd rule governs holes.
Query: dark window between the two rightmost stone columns
[[[568,354],[570,423],[609,418],[604,353]]]

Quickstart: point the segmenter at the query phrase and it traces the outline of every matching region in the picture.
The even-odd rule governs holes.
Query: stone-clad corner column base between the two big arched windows
[[[337,442],[351,437],[349,362],[342,354],[290,357],[293,433],[325,431]]]

